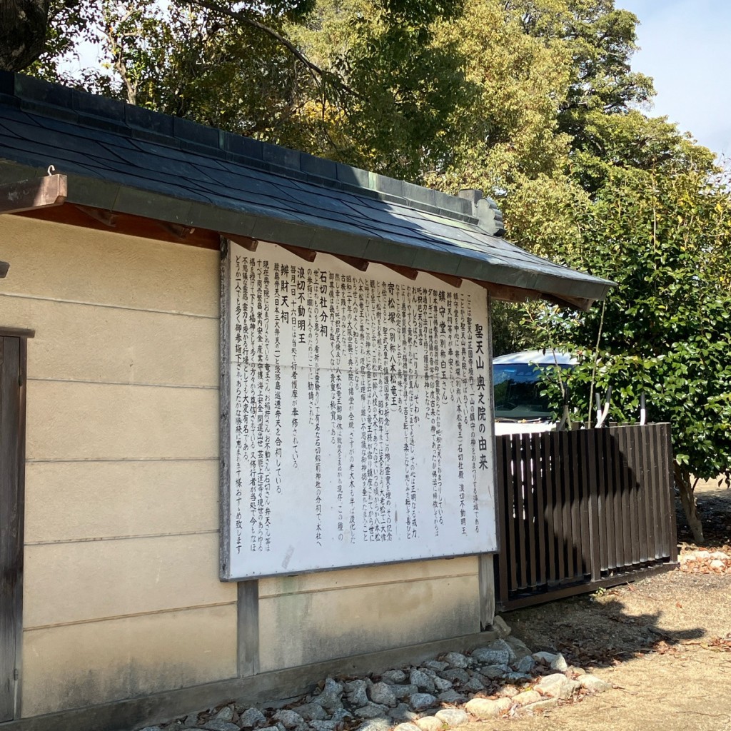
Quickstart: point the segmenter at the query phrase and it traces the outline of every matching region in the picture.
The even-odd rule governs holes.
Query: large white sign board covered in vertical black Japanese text
[[[221,576],[495,551],[485,290],[229,246]]]

